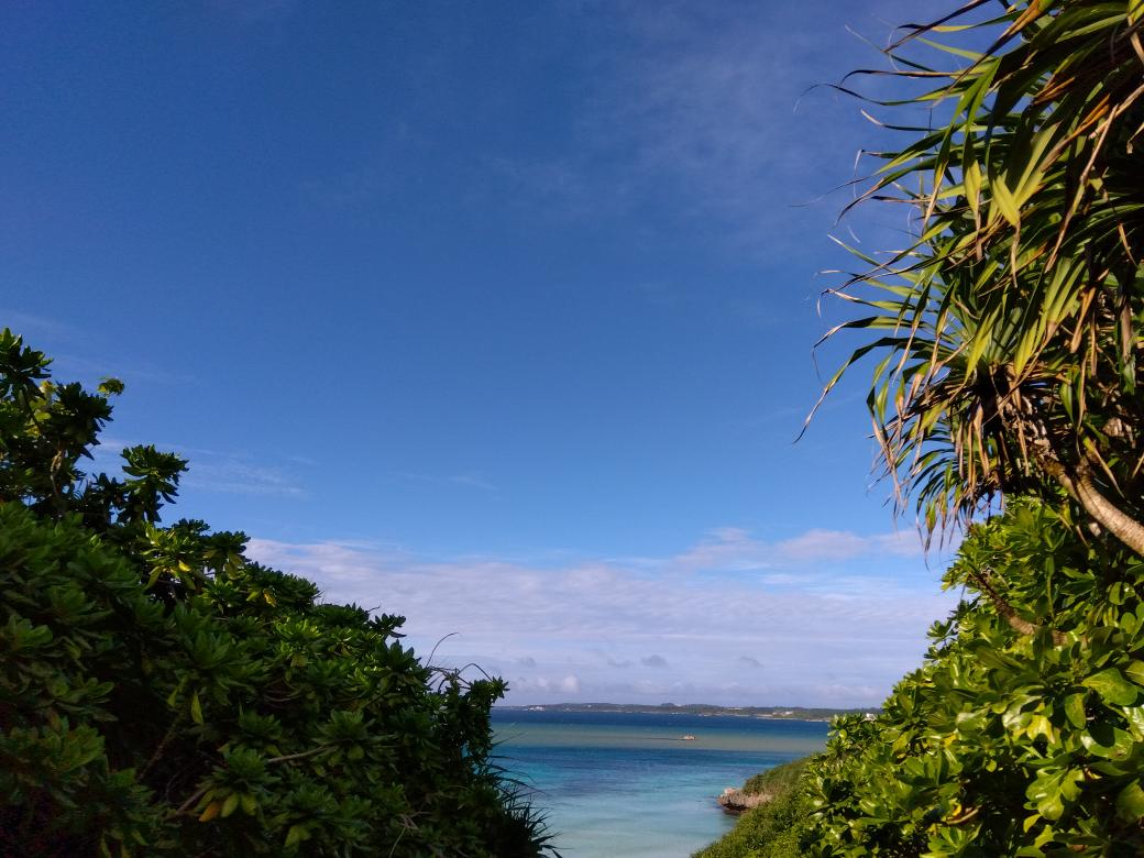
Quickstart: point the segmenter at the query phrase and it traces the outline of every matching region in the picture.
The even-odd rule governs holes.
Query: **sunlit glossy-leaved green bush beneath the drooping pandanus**
[[[946,585],[976,597],[812,763],[807,855],[1144,853],[1144,563],[1063,509],[971,529]]]

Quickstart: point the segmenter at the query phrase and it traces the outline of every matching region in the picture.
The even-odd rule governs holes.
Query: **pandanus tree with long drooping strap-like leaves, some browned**
[[[1141,0],[974,0],[906,26],[893,69],[868,72],[921,82],[875,104],[934,125],[892,125],[909,142],[872,153],[857,202],[909,207],[913,238],[833,291],[869,312],[827,337],[868,339],[827,391],[880,358],[874,434],[929,533],[999,494],[1064,491],[1144,555],[1142,31]]]

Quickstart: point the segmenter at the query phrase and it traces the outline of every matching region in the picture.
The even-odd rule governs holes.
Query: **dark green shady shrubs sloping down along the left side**
[[[241,533],[160,526],[186,463],[87,477],[111,416],[0,333],[0,855],[525,856],[496,680],[324,604]]]

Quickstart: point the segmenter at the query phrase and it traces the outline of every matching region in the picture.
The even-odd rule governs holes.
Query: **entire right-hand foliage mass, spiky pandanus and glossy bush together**
[[[770,840],[713,858],[1144,855],[1142,31],[1139,0],[970,0],[889,48],[936,88],[881,102],[929,124],[885,122],[909,141],[863,199],[914,240],[836,291],[872,315],[829,387],[877,358],[885,471],[928,533],[966,527],[966,598]]]

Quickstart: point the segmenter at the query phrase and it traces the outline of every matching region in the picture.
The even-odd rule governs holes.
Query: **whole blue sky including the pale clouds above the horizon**
[[[0,324],[509,702],[875,704],[955,596],[859,386],[792,443],[828,236],[905,227],[811,87],[942,8],[6,3]]]

